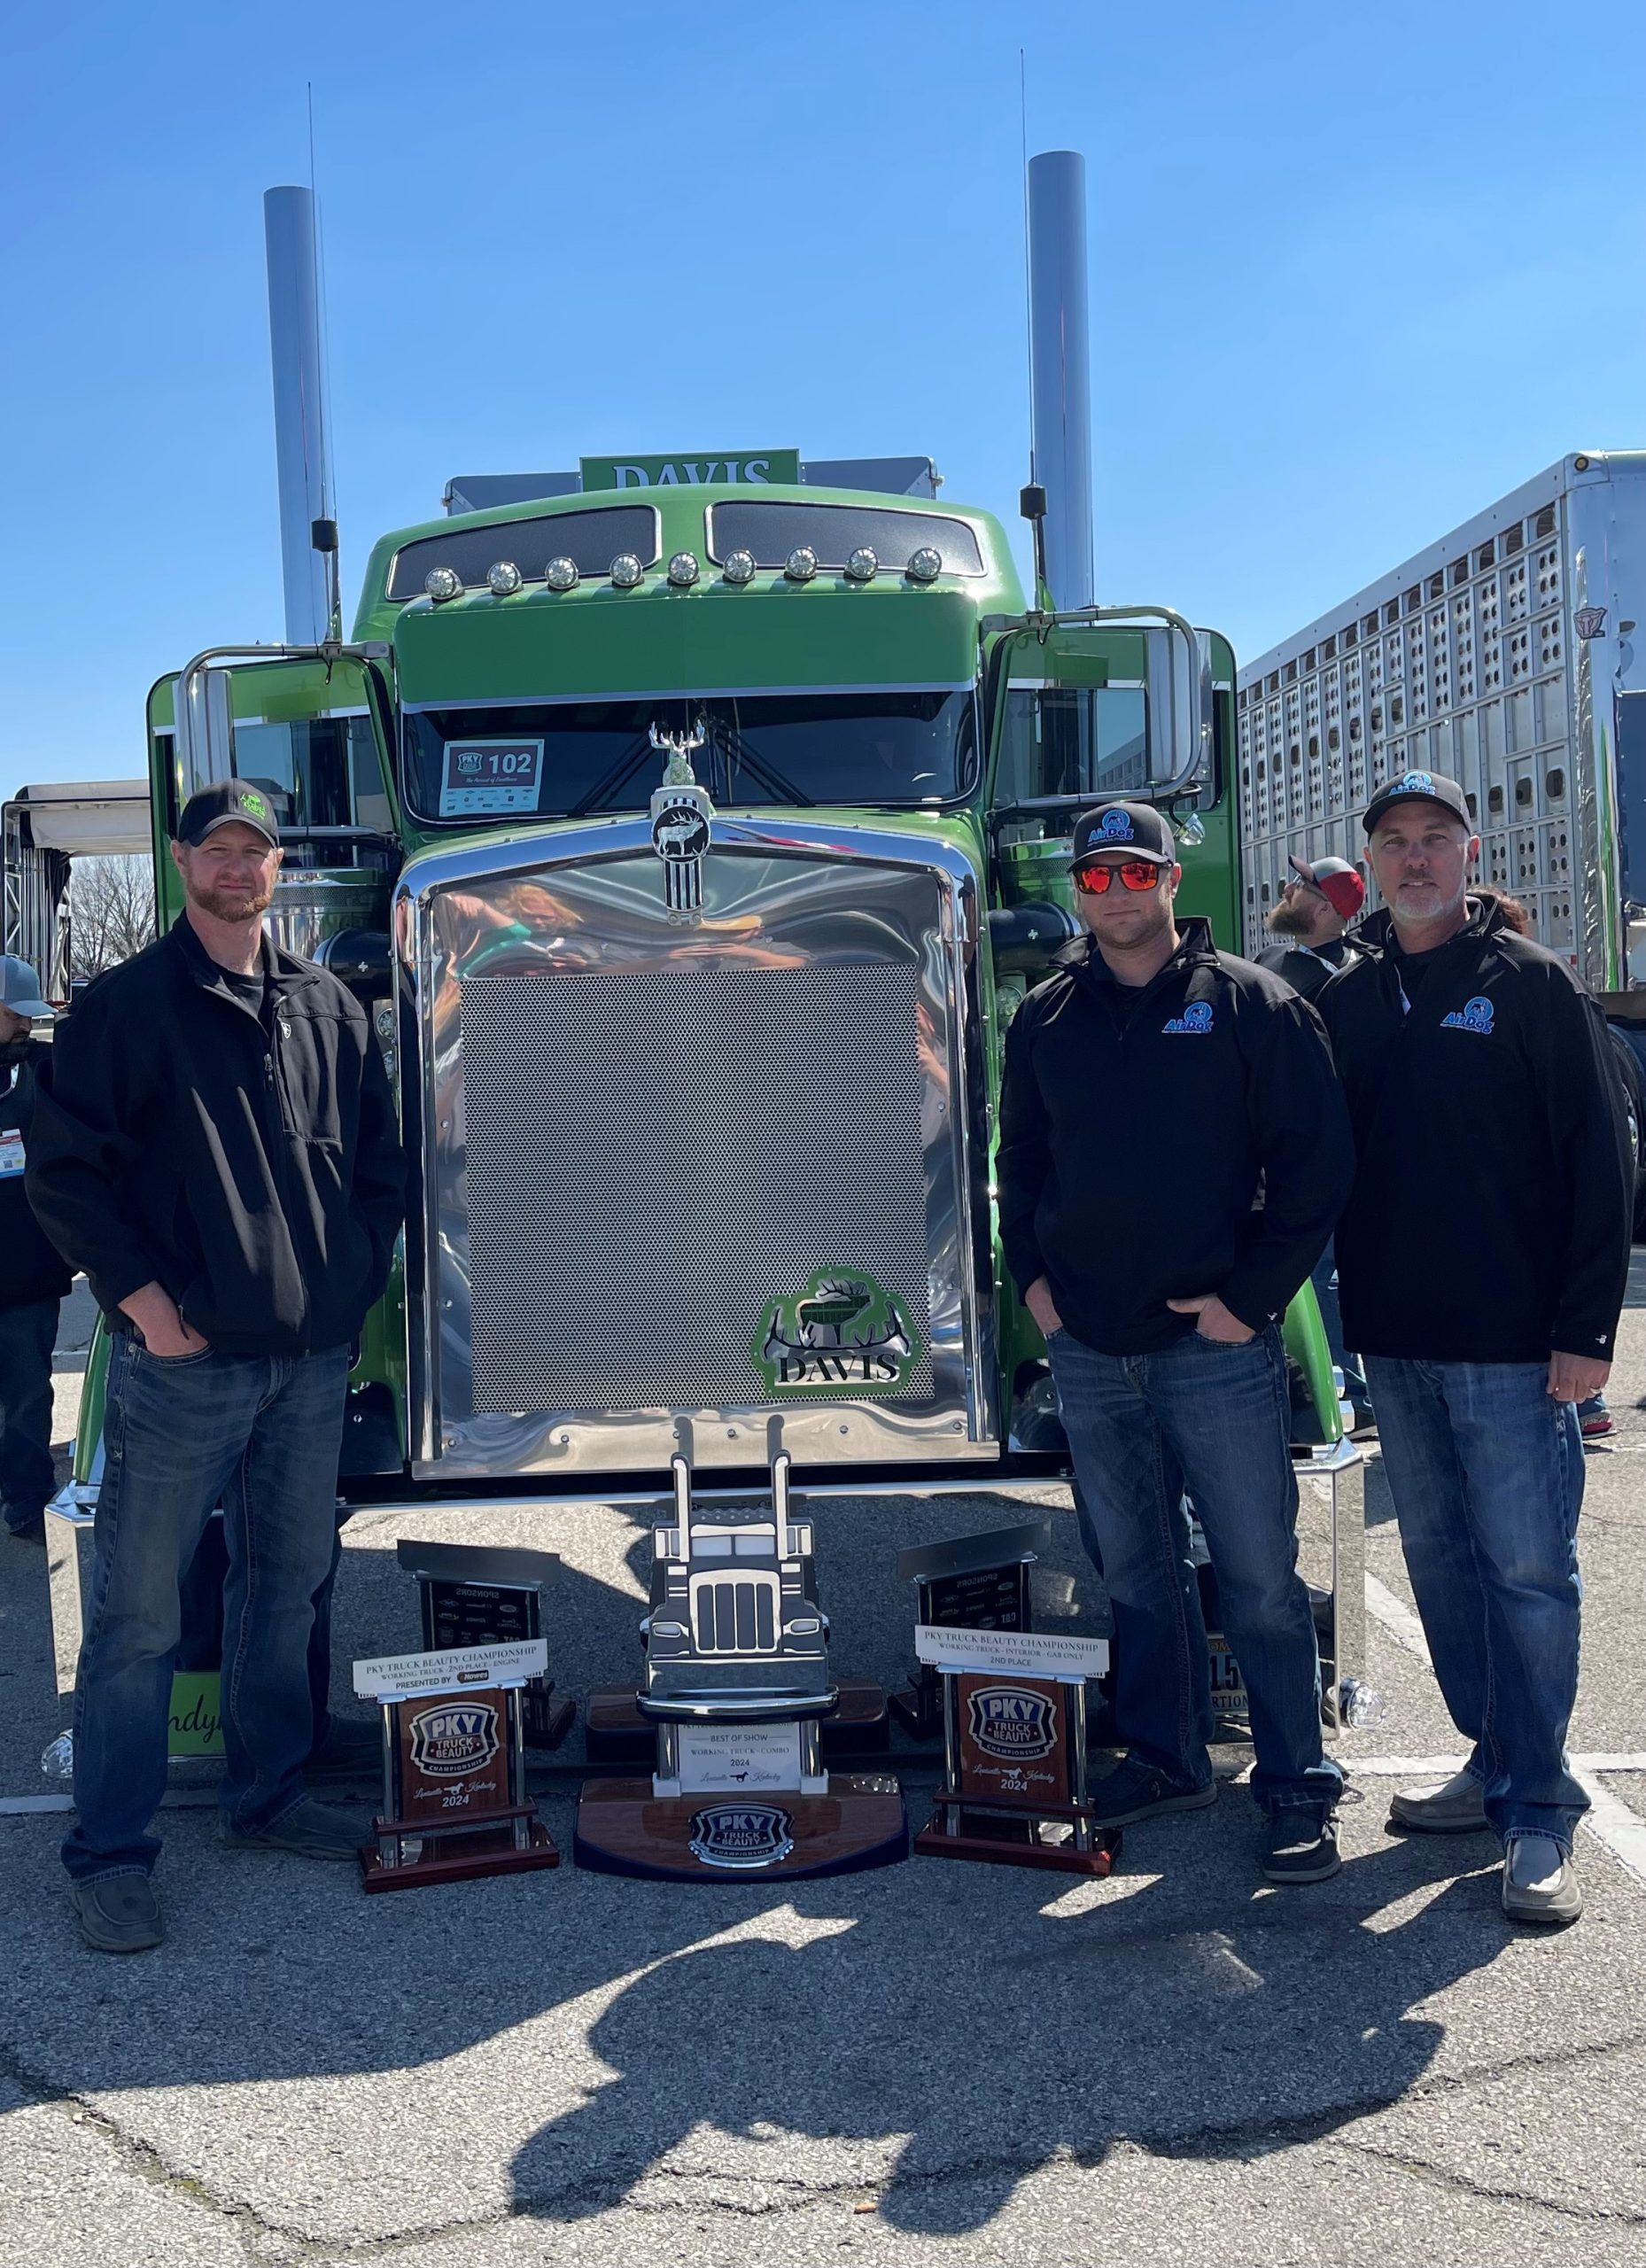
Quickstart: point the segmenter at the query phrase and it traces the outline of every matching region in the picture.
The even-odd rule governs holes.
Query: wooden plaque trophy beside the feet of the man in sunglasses
[[[1086,1678],[1109,1642],[936,1624],[914,1642],[943,1690],[943,1785],[916,1853],[1109,1873],[1120,1835],[1086,1794]]]

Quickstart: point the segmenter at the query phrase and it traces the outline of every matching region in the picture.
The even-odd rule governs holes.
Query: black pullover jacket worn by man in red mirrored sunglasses
[[[1007,1034],[1007,1268],[1020,1290],[1045,1277],[1102,1354],[1170,1347],[1195,1318],[1165,1302],[1199,1293],[1261,1331],[1349,1191],[1349,1120],[1315,1009],[1217,953],[1204,921],[1179,934],[1136,989],[1091,939],[1068,946]]]

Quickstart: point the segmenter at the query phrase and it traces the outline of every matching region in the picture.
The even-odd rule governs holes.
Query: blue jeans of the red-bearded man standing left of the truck
[[[349,1349],[163,1361],[129,1334],[109,1352],[97,1563],[75,1696],[75,1882],[150,1873],[166,1792],[179,1585],[222,1499],[220,1789],[236,1828],[304,1794],[315,1740],[308,1637],[336,1542]]]

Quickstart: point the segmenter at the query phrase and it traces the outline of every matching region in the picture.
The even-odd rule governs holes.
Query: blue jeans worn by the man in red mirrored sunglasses
[[[1115,1617],[1115,1724],[1131,1755],[1211,1783],[1211,1676],[1188,1549],[1188,1486],[1217,1576],[1224,1635],[1252,1696],[1263,1810],[1329,1808],[1342,1789],[1320,1737],[1320,1656],[1297,1574],[1297,1479],[1281,1334],[1186,1334],[1161,1354],[1050,1347],[1088,1549]]]

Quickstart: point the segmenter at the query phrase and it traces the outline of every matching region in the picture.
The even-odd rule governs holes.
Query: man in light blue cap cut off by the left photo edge
[[[29,964],[11,953],[0,957],[0,1515],[7,1535],[32,1545],[45,1542],[52,1347],[57,1311],[73,1284],[23,1188],[34,1075],[50,1055],[29,1036],[29,1023],[48,1023],[52,1014]]]

